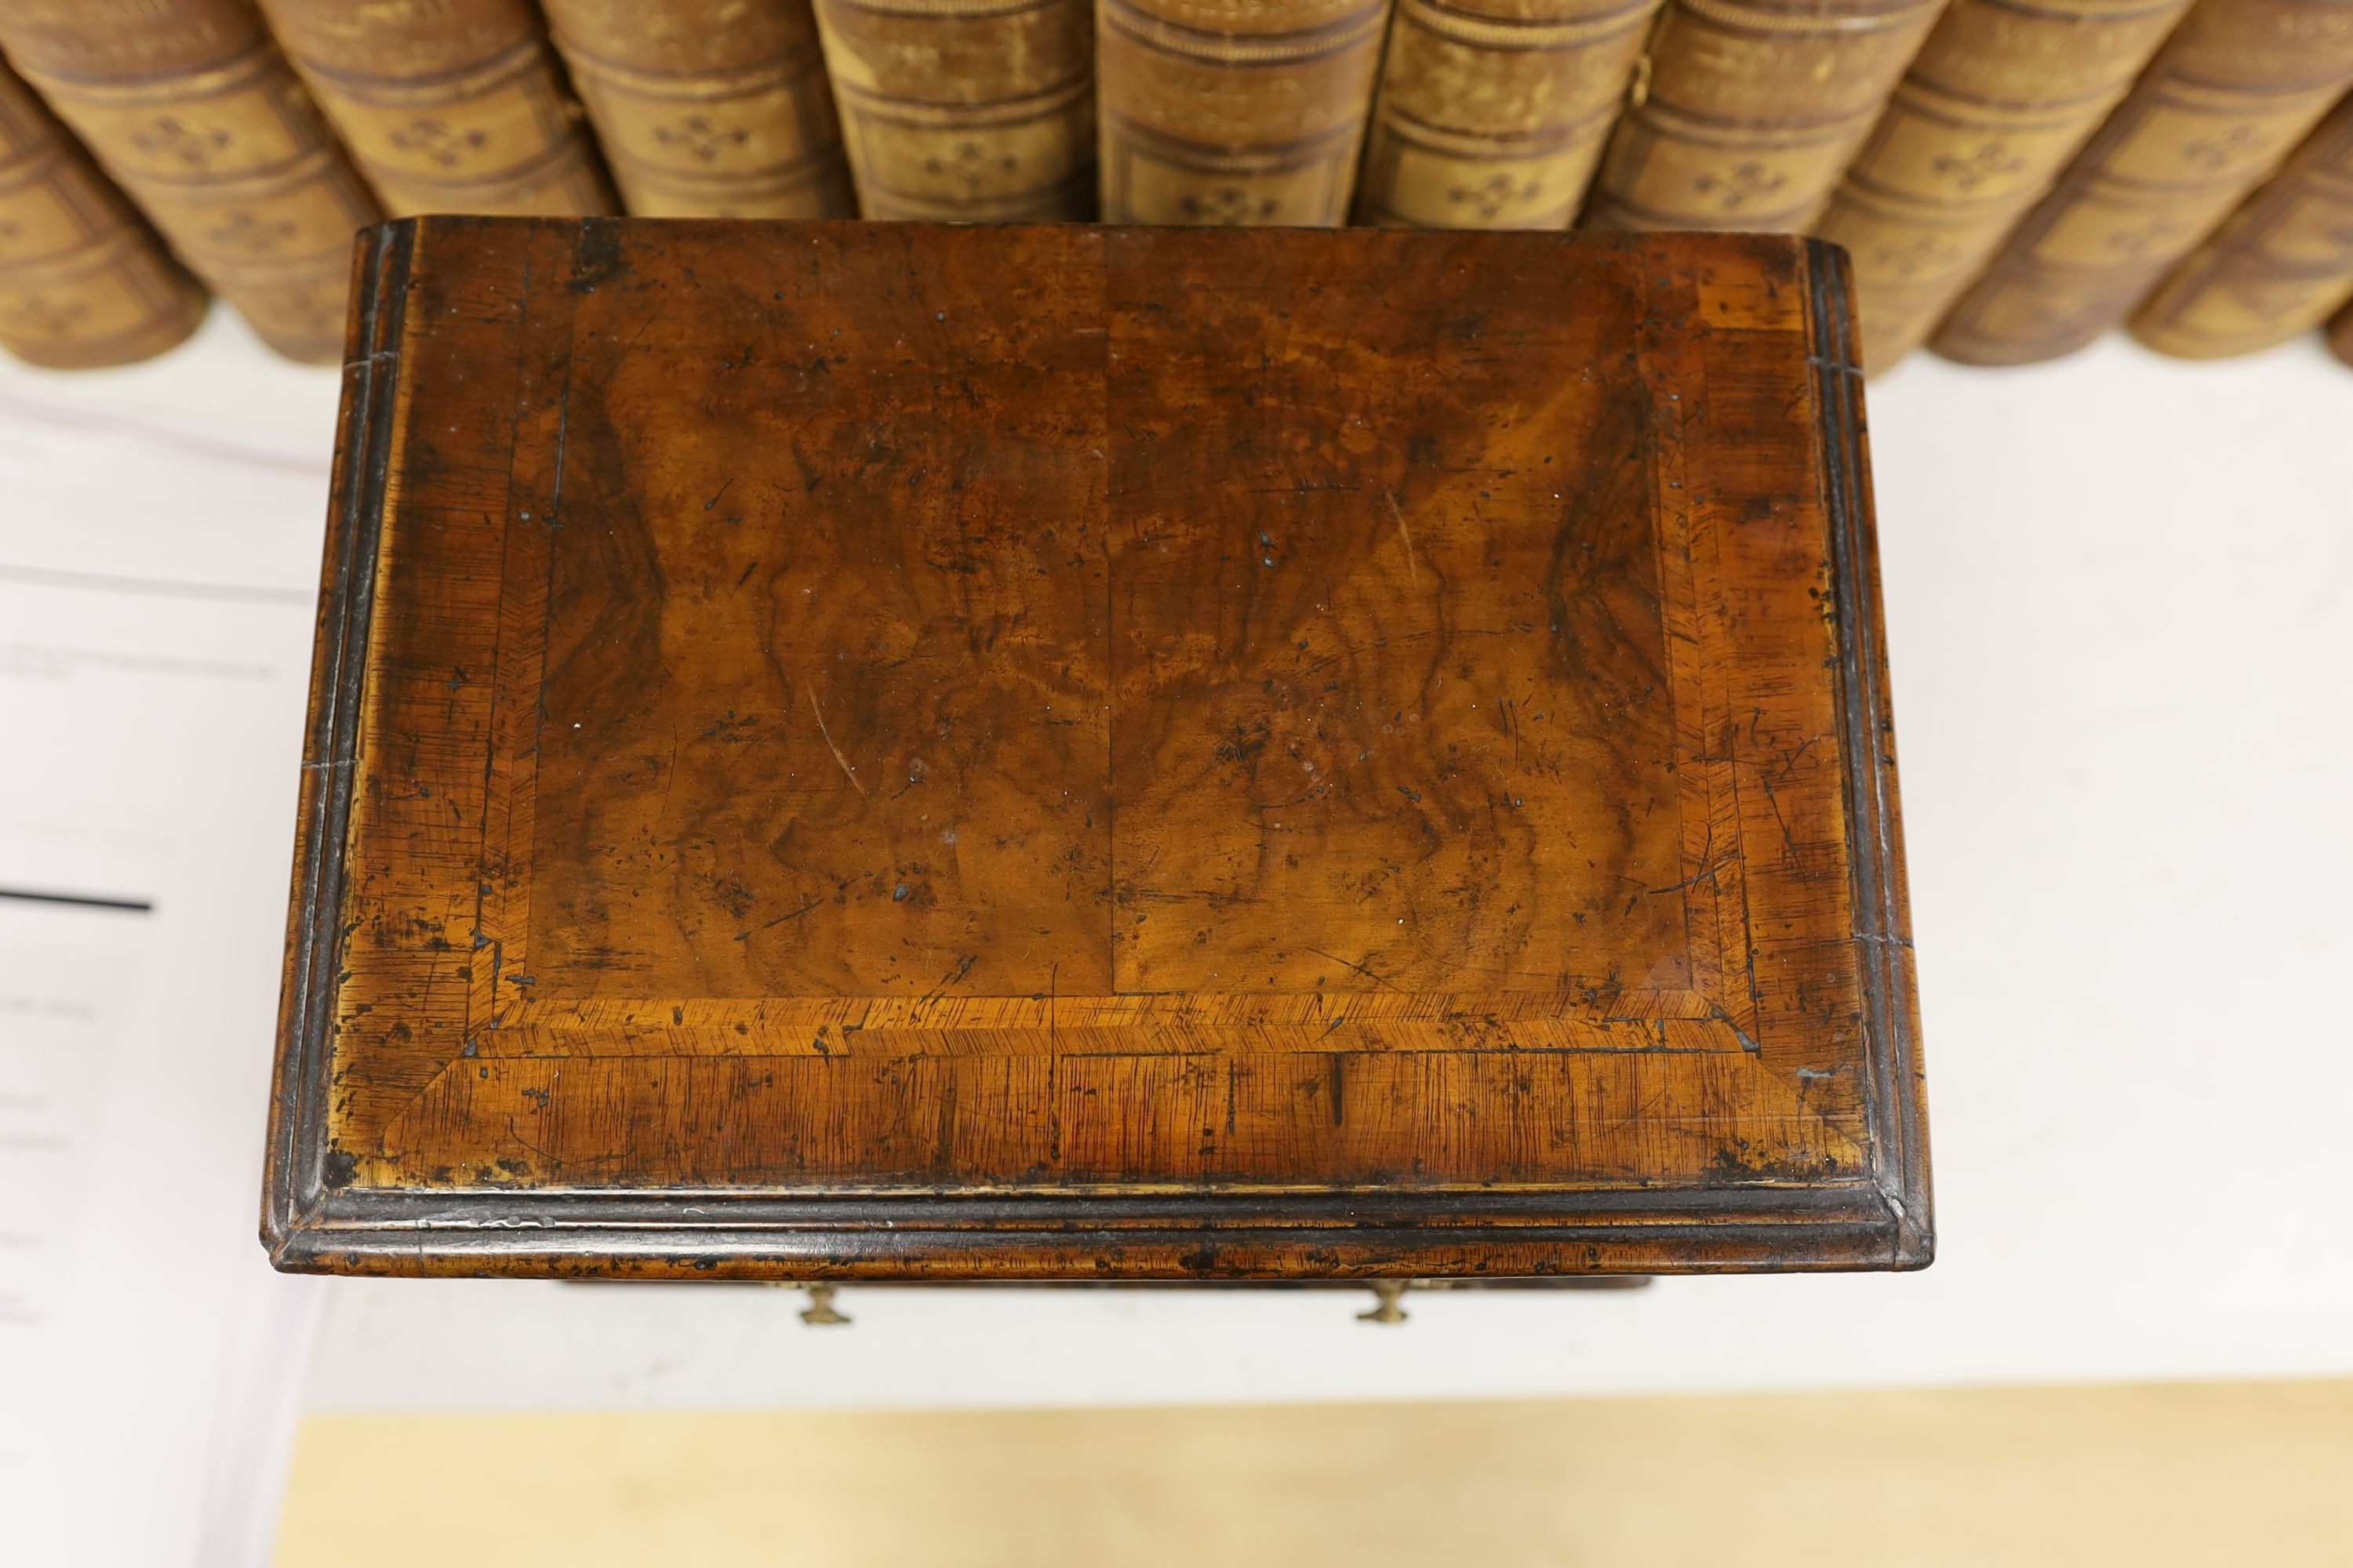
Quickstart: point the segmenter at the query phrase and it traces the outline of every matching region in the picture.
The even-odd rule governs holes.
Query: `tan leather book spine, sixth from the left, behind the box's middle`
[[[1388,0],[1099,0],[1104,221],[1348,221]]]

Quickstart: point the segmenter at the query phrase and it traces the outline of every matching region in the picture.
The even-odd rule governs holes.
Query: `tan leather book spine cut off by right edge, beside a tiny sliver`
[[[2353,99],[2289,153],[2132,315],[2132,336],[2184,360],[2252,355],[2353,296]]]

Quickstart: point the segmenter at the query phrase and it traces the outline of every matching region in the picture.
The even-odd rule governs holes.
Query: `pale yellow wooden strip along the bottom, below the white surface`
[[[2353,1563],[2353,1382],[318,1415],[278,1568]]]

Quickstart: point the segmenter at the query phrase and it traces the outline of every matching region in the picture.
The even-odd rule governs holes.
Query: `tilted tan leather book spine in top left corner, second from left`
[[[344,353],[384,216],[247,0],[24,0],[0,49],[181,261],[294,360]]]

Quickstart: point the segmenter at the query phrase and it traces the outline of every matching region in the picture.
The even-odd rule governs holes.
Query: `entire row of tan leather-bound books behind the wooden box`
[[[334,360],[419,212],[1809,230],[1871,369],[2353,296],[2353,0],[0,0],[0,52],[42,364],[207,289]]]

